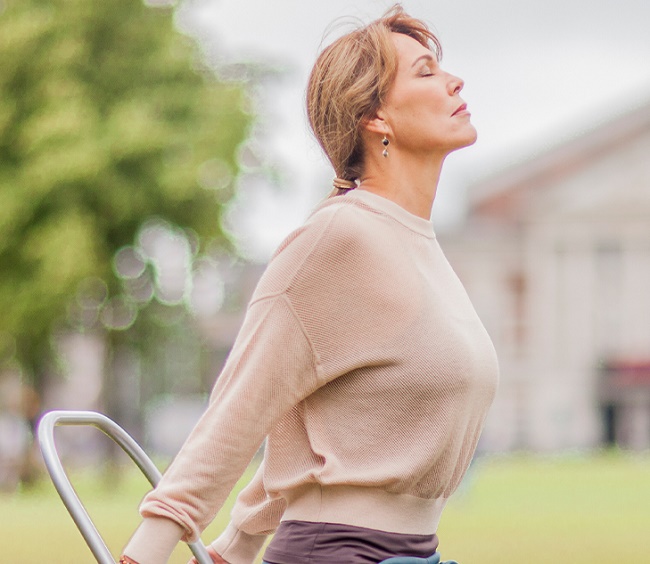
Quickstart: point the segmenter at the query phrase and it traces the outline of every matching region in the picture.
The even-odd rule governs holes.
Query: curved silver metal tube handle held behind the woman
[[[86,508],[74,491],[56,450],[54,427],[63,425],[88,425],[102,431],[120,445],[122,450],[140,468],[152,486],[156,487],[158,485],[162,475],[140,445],[122,427],[101,413],[95,411],[50,411],[41,418],[38,424],[38,443],[56,491],[59,493],[61,500],[97,562],[100,564],[115,564],[115,560],[113,560],[104,539],[97,531]],[[200,540],[190,543],[189,547],[199,564],[212,564],[212,558]]]

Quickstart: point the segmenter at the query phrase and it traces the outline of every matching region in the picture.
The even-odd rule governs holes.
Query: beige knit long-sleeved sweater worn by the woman
[[[431,222],[360,189],[330,198],[271,260],[126,553],[164,562],[182,534],[195,540],[265,438],[214,543],[228,562],[251,564],[282,519],[434,533],[497,378]]]

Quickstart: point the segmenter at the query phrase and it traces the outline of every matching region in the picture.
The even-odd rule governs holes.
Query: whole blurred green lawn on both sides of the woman
[[[89,513],[117,554],[139,521],[144,478],[74,479]],[[12,564],[92,562],[53,486],[0,494],[0,560]],[[206,531],[225,526],[226,507]],[[600,453],[518,455],[476,462],[440,525],[443,558],[460,564],[650,563],[650,456]],[[179,547],[171,562],[187,562]],[[336,563],[333,563],[336,564]],[[341,563],[343,564],[343,563]]]

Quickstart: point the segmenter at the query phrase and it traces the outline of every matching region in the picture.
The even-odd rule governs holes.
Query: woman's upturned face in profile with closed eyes
[[[390,127],[391,143],[400,150],[443,156],[474,143],[476,129],[460,98],[463,81],[443,71],[435,53],[412,37],[392,36],[397,73],[378,112]]]

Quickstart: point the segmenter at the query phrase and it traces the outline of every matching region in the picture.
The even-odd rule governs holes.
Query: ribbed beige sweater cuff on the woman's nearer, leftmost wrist
[[[164,517],[147,517],[126,545],[124,554],[138,564],[165,564],[185,530]]]

